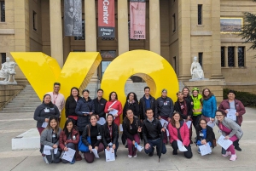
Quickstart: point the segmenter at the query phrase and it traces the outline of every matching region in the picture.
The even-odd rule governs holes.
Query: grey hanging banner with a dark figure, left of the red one
[[[82,37],[82,0],[64,0],[65,36]]]

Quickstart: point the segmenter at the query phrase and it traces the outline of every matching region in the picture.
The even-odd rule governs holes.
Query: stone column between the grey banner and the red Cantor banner
[[[84,1],[84,29],[85,29],[85,51],[96,52],[96,7],[95,0]],[[97,83],[97,71],[90,79],[90,83]]]

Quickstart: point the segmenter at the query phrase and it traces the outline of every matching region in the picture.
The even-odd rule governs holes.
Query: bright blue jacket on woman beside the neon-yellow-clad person
[[[203,100],[203,107],[201,113],[205,117],[215,117],[215,113],[217,111],[217,101],[214,95],[210,97],[208,100]]]

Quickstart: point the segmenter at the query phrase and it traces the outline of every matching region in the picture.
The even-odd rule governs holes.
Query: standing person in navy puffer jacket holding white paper
[[[83,134],[85,126],[90,123],[90,115],[95,112],[95,105],[89,97],[90,91],[84,89],[82,94],[83,98],[78,101],[75,109],[76,114],[79,116],[77,123],[79,134]]]

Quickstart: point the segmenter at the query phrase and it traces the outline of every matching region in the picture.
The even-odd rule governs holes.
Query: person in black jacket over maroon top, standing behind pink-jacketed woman
[[[174,104],[174,111],[177,111],[183,119],[186,120],[186,122],[191,121],[192,117],[192,109],[193,106],[191,105],[191,102],[187,99],[183,98],[183,92],[177,92],[177,101]],[[193,144],[193,141],[191,140],[192,137],[192,127],[189,128],[189,140],[190,144]]]

